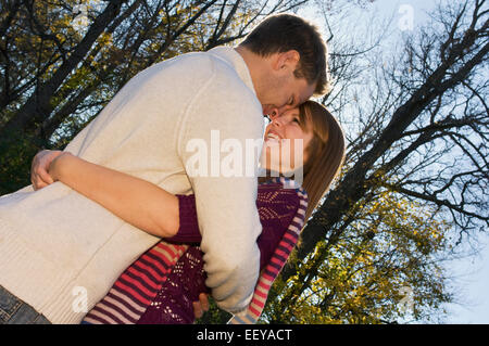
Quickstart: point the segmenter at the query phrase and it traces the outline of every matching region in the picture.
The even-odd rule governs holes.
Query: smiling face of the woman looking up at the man
[[[300,124],[299,107],[278,115],[272,112],[266,126],[261,166],[281,174],[294,170],[308,159],[306,148],[313,138],[311,124]]]

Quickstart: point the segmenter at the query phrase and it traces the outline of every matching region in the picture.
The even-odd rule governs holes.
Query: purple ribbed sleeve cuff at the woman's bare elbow
[[[200,243],[202,235],[199,231],[199,222],[197,220],[196,196],[193,194],[177,194],[180,227],[178,232],[166,239],[177,243]]]

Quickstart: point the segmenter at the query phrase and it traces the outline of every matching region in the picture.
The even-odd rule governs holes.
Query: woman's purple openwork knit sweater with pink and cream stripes
[[[260,268],[268,284],[256,286],[253,307],[249,313],[254,322],[263,308],[269,281],[278,274],[293,248],[298,231],[302,229],[306,195],[294,188],[293,181],[280,178],[259,185],[256,207],[263,227],[258,239]],[[193,195],[178,195],[180,228],[172,238],[177,243],[199,243],[201,235],[197,222]],[[109,294],[86,316],[84,322],[92,324],[175,324],[193,322],[192,302],[200,293],[209,293],[204,284],[202,252],[198,246],[156,244],[138,258],[117,279]],[[180,245],[181,246],[181,245]],[[184,252],[185,251],[185,252]],[[172,266],[174,257],[183,255]],[[168,256],[170,255],[170,256]],[[264,278],[262,278],[264,279]],[[244,313],[247,316],[247,313]],[[239,322],[238,318],[234,322]]]

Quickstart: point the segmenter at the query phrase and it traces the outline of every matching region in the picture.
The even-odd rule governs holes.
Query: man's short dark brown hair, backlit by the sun
[[[241,42],[261,56],[296,50],[300,54],[297,78],[316,84],[315,94],[329,91],[327,47],[317,28],[292,14],[277,14],[265,18]]]

